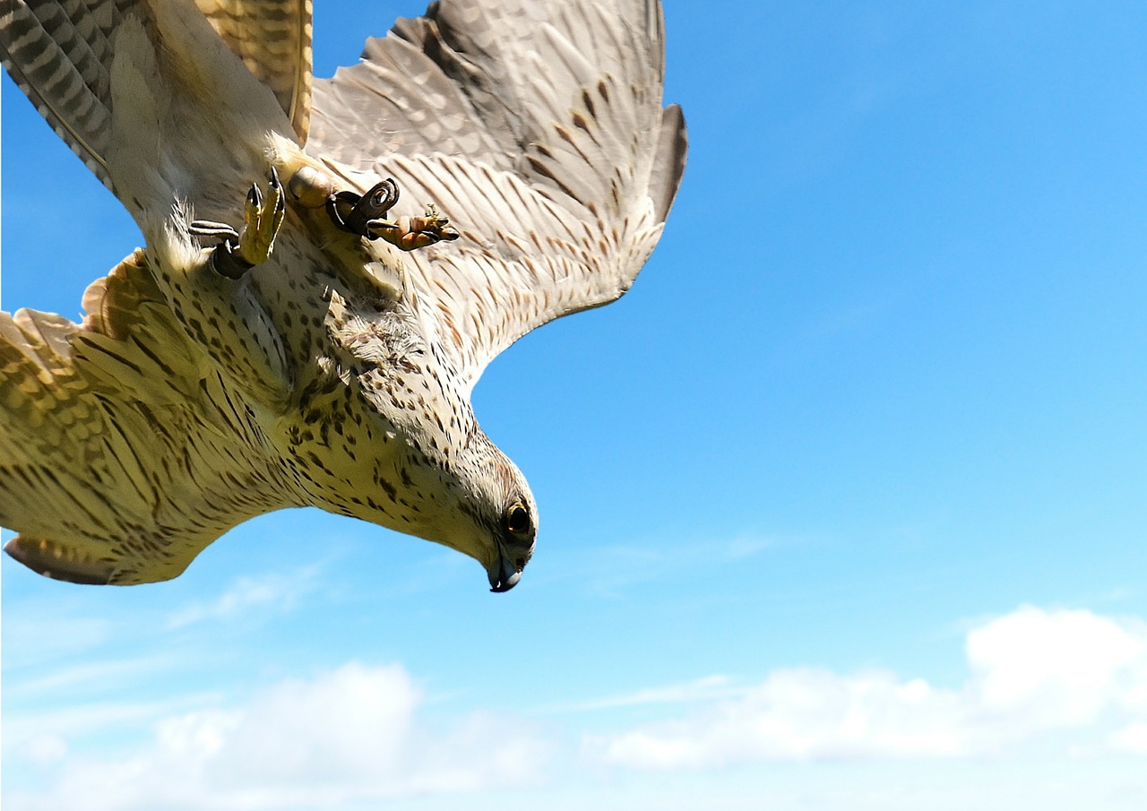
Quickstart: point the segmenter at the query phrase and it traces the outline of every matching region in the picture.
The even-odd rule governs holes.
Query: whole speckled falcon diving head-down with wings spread
[[[311,32],[311,0],[0,0],[9,75],[146,243],[80,323],[0,313],[0,524],[36,571],[170,579],[297,506],[493,591],[530,560],[470,392],[661,235],[686,154],[661,3],[442,0],[331,79]]]

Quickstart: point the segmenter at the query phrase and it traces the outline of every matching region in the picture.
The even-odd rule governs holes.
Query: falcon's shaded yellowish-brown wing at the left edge
[[[73,583],[179,575],[203,547],[289,506],[255,420],[201,362],[142,255],[84,296],[76,325],[0,313],[0,524],[6,549]]]

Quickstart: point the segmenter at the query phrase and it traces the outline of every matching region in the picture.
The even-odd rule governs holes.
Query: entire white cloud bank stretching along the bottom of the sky
[[[448,717],[429,711],[432,697],[405,666],[349,662],[264,684],[237,702],[143,711],[134,740],[110,757],[71,751],[69,713],[57,716],[58,728],[42,717],[9,718],[6,762],[46,788],[8,800],[23,811],[336,810],[618,771],[1008,763],[1032,747],[1076,759],[1147,758],[1141,621],[1024,606],[972,627],[963,650],[968,672],[957,687],[882,670],[786,668],[759,684],[710,677],[584,708]],[[633,704],[661,718],[603,734],[579,728],[586,715]],[[574,762],[582,764],[574,772],[561,765]]]

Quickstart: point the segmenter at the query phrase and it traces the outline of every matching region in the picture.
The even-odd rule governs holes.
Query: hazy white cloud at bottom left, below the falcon
[[[62,761],[55,787],[7,794],[5,806],[280,811],[538,779],[547,747],[523,723],[475,713],[439,728],[421,704],[403,668],[352,663],[280,683],[243,707],[166,717],[133,756],[69,755],[67,742],[44,741],[39,761]]]

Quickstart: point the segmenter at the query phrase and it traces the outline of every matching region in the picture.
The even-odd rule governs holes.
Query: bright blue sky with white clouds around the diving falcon
[[[322,5],[317,72],[421,9]],[[475,392],[522,584],[314,510],[5,559],[6,808],[1144,806],[1147,8],[665,11],[661,245]],[[2,106],[3,306],[76,318],[138,234]]]

